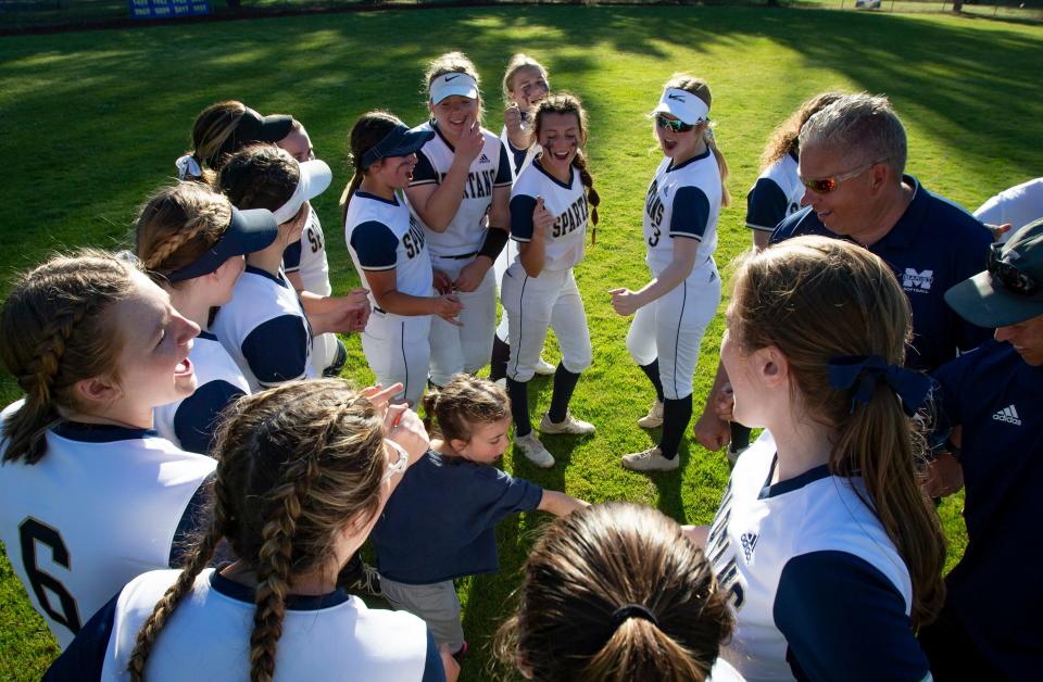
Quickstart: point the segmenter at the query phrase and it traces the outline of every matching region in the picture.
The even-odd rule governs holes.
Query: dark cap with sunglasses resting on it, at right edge
[[[945,302],[979,327],[1043,315],[1043,218],[990,247],[989,267],[945,292]]]

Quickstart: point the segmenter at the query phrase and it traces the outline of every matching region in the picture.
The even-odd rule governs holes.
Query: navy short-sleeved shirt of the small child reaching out
[[[500,570],[495,526],[540,505],[543,489],[500,469],[428,451],[373,529],[381,576],[427,585]]]

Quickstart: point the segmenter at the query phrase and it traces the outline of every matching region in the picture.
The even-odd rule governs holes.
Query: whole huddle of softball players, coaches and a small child
[[[987,227],[904,174],[885,98],[805,102],[747,194],[754,248],[694,425],[728,446],[731,478],[712,525],[680,526],[494,466],[513,442],[554,467],[540,438],[596,431],[569,408],[594,362],[574,274],[601,204],[589,122],[525,54],[499,136],[463,53],[425,83],[427,123],[370,111],[348,135],[359,289],[332,292],[310,203],[332,173],[304,126],[237,101],[199,114],[133,252],[58,255],[15,280],[0,356],[25,397],[2,413],[0,539],[63,649],[46,679],[455,680],[453,581],[497,572],[498,522],[535,509],[557,518],[493,643],[527,678],[1039,669],[1043,591],[997,607],[989,581],[1010,553],[1043,558],[1019,544],[1043,512],[1043,422],[1025,407],[1043,404],[1043,210],[1000,227],[1011,202],[992,200]],[[712,103],[676,74],[650,108],[649,279],[608,292],[654,392],[638,426],[662,427],[621,456],[631,470],[680,467],[721,301]],[[348,333],[375,386],[338,378]],[[553,375],[538,425],[536,374]],[[932,497],[962,487],[969,544],[943,580]]]

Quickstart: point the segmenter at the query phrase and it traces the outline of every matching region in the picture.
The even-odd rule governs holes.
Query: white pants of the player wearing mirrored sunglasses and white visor
[[[638,365],[659,361],[667,400],[692,394],[699,346],[720,304],[720,275],[713,258],[692,268],[688,278],[633,316],[627,351]]]

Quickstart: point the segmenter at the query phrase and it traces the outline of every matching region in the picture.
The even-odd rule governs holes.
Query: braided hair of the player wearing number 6
[[[3,462],[36,464],[58,406],[80,408],[78,381],[116,372],[122,338],[112,306],[134,292],[136,265],[100,250],[56,255],[22,273],[3,305],[0,357],[25,391],[3,425]]]

